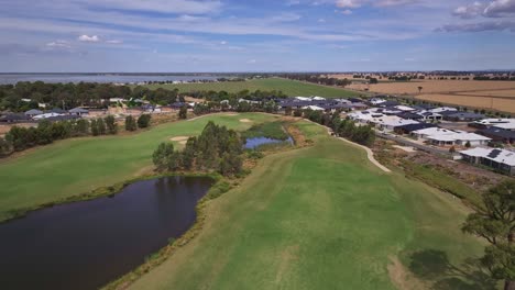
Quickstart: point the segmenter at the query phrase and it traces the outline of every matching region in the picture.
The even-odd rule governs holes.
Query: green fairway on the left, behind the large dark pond
[[[272,120],[264,114],[211,115],[190,122],[168,123],[128,136],[76,138],[57,142],[0,163],[0,220],[6,211],[33,207],[64,197],[111,186],[151,166],[152,152],[173,136],[197,135],[209,120],[245,130]]]

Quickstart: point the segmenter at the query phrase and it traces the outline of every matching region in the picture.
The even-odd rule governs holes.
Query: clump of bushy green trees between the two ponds
[[[183,150],[169,142],[161,143],[152,155],[157,170],[216,171],[235,176],[243,169],[243,143],[239,134],[212,121],[198,137],[189,137]]]

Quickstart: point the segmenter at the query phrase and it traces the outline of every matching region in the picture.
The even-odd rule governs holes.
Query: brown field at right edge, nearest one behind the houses
[[[419,94],[416,99],[441,102],[445,104],[464,105],[470,108],[481,108],[492,111],[502,111],[508,113],[515,113],[515,99],[500,99],[500,98],[486,98],[478,96],[461,96],[461,94],[443,94],[443,93],[430,93]]]

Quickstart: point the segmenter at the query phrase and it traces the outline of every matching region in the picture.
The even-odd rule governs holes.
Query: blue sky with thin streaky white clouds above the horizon
[[[515,0],[6,0],[0,71],[515,69]]]

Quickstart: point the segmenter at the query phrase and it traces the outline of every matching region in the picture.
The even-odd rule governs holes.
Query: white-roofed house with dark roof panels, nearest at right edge
[[[515,153],[497,148],[473,148],[460,152],[464,161],[480,164],[506,175],[515,175]]]

